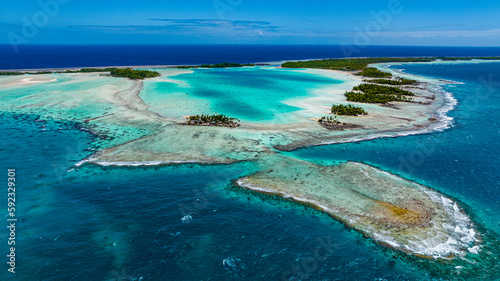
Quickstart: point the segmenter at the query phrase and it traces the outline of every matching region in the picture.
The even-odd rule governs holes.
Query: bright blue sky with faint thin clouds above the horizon
[[[17,0],[0,43],[500,46],[499,15],[497,0]]]

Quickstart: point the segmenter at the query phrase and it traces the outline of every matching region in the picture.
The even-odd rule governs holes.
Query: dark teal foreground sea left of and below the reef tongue
[[[229,180],[252,171],[251,165],[67,172],[86,154],[88,134],[41,132],[32,119],[9,128],[13,118],[2,119],[11,136],[4,140],[2,154],[10,159],[2,158],[2,167],[16,168],[22,184],[15,280],[422,276],[326,215],[230,187]],[[19,145],[24,136],[32,136],[22,144],[30,156]],[[192,219],[183,221],[188,214]],[[328,258],[309,265],[316,248]]]

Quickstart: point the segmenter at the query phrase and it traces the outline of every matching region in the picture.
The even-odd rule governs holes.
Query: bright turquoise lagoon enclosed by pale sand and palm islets
[[[300,121],[289,113],[303,109],[287,101],[310,97],[315,89],[345,82],[275,67],[160,72],[168,79],[146,81],[141,98],[162,116],[217,113],[260,123]]]

